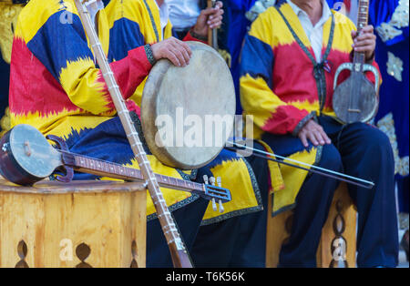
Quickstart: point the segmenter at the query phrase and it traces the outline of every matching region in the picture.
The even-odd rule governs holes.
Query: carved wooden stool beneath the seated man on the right
[[[269,199],[272,209],[272,199]],[[276,267],[283,240],[289,237],[292,228],[292,210],[272,218],[268,213],[266,236],[266,266]],[[329,217],[322,231],[322,239],[317,250],[317,266],[320,268],[354,268],[356,255],[356,211],[349,197],[346,185],[342,183],[336,190]]]

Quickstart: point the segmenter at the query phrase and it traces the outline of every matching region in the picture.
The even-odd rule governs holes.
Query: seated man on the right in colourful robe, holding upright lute
[[[241,104],[253,117],[255,139],[278,155],[372,180],[349,185],[358,210],[359,267],[397,265],[393,152],[388,138],[364,123],[342,125],[332,106],[338,66],[353,48],[374,62],[375,36],[360,36],[348,17],[324,0],[280,0],[257,17],[241,58]],[[339,81],[348,77],[344,71]],[[373,75],[367,75],[374,82]],[[315,267],[323,224],[337,188],[334,179],[282,166],[285,188],[272,190],[272,214],[293,209],[292,234],[280,266]]]

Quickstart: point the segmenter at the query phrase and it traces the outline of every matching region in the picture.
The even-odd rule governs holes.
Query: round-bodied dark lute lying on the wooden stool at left
[[[56,148],[46,138],[55,142]],[[145,181],[138,169],[70,153],[63,139],[56,136],[46,138],[36,128],[26,124],[17,125],[5,133],[0,140],[0,172],[5,179],[18,185],[31,186],[60,170],[65,175],[57,176],[56,179],[70,182],[76,170],[114,179]],[[222,203],[231,200],[229,189],[159,174],[155,176],[164,188],[189,191],[204,199],[217,199]]]

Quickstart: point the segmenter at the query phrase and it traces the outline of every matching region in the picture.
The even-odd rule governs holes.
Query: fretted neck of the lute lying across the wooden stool
[[[84,171],[97,176],[110,177],[115,179],[138,180],[143,181],[142,173],[139,169],[124,167],[117,163],[89,158],[83,155],[73,154],[67,151],[61,151],[63,154],[63,163],[77,171]],[[155,174],[161,187],[172,187],[179,190],[197,190],[203,191],[203,185],[200,183],[176,179],[164,175]]]

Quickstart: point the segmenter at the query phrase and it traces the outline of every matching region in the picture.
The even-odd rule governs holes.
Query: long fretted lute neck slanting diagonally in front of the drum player
[[[159,189],[159,182],[149,164],[147,154],[138,138],[138,132],[132,124],[124,97],[121,95],[121,91],[118,87],[114,74],[108,64],[107,56],[104,54],[101,43],[99,42],[94,24],[88,14],[87,6],[85,5],[86,2],[87,1],[85,0],[75,0],[77,11],[83,23],[86,35],[88,36],[90,44],[94,50],[94,54],[97,58],[97,64],[107,83],[109,94],[118,112],[118,117],[120,118],[122,126],[127,134],[129,144],[135,158],[137,158],[139,169],[141,169],[143,178],[148,182],[149,195],[154,202],[159,223],[168,242],[173,265],[178,268],[191,268],[192,263],[190,261],[190,255],[182,242],[179,230],[177,229],[175,221],[169,212],[164,196]]]

